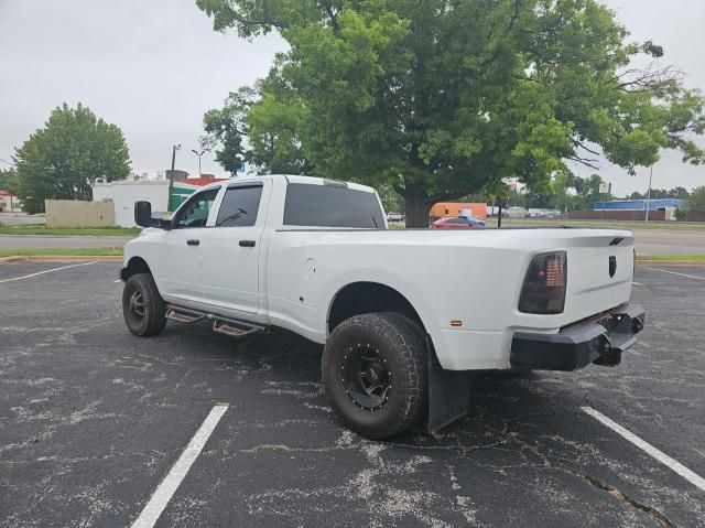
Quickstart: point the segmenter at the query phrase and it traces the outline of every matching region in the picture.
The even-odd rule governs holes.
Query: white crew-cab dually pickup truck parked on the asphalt
[[[326,394],[372,439],[467,412],[468,373],[615,366],[644,312],[623,229],[387,228],[375,190],[305,176],[218,182],[124,247],[128,328],[207,320],[325,345]]]

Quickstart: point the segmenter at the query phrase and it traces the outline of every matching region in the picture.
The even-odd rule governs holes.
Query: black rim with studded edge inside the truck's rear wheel
[[[381,409],[389,399],[392,375],[379,351],[370,345],[349,347],[340,366],[343,387],[352,403],[367,411]]]

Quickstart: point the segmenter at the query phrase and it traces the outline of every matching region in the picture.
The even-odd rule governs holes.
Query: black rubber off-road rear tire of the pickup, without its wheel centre
[[[332,332],[323,354],[323,384],[349,429],[383,440],[408,430],[425,416],[426,349],[414,326],[398,314],[367,313],[343,321]],[[388,370],[390,386],[379,408],[361,407],[346,389],[344,367],[357,347],[377,352]]]

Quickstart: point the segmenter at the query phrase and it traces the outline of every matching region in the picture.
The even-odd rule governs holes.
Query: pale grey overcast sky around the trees
[[[668,63],[705,88],[705,2],[607,0],[634,40],[664,46]],[[154,174],[171,163],[197,174],[203,114],[229,90],[267,74],[284,50],[275,35],[250,43],[212,30],[194,0],[0,0],[0,159],[42,127],[52,108],[82,101],[118,125],[130,147],[132,169]],[[6,165],[0,161],[0,165]],[[223,174],[206,154],[203,171]],[[615,194],[647,187],[603,164]],[[666,154],[654,168],[654,187],[705,185],[705,169]]]

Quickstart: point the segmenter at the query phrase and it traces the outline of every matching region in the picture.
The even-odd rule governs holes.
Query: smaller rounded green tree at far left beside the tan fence
[[[122,131],[89,108],[64,104],[15,149],[14,191],[28,213],[44,211],[44,200],[91,200],[96,177],[122,180],[130,154]]]

